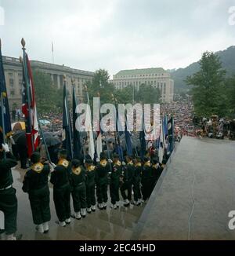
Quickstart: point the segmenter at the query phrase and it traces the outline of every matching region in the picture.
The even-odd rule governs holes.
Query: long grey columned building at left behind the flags
[[[22,104],[22,82],[23,71],[20,60],[13,57],[2,57],[5,72],[5,83],[9,97],[9,108],[21,108]],[[49,64],[37,60],[31,60],[31,68],[49,74],[52,84],[56,88],[63,88],[63,75],[67,80],[67,91],[69,97],[72,94],[72,79],[77,97],[83,98],[83,90],[86,82],[91,81],[94,73],[90,71],[78,70],[64,65]],[[46,93],[46,92],[45,92]],[[62,100],[62,99],[61,99]]]

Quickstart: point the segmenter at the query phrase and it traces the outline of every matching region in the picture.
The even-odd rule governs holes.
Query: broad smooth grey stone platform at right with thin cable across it
[[[235,142],[184,137],[132,239],[235,240],[230,210],[235,210]]]

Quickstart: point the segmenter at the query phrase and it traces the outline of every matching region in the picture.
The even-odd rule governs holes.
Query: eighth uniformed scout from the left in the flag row
[[[128,205],[132,201],[132,182],[133,182],[135,167],[132,162],[132,156],[127,156],[126,160],[127,160],[127,165],[124,167],[124,170],[123,170],[123,183],[121,185],[121,196],[125,201],[124,206],[128,207]],[[125,193],[126,190],[128,192],[128,195],[126,195]]]

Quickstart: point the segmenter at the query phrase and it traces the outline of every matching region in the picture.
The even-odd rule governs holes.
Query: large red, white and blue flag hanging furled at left
[[[27,156],[31,157],[32,152],[38,148],[40,138],[38,133],[38,113],[34,95],[33,75],[31,71],[30,60],[25,51],[23,59],[23,71],[24,81],[22,94],[22,112],[26,121]]]

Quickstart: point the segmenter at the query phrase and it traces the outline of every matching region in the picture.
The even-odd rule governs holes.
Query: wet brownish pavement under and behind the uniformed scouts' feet
[[[18,199],[17,233],[23,234],[22,240],[130,240],[144,206],[121,206],[114,210],[110,208],[109,199],[107,210],[97,209],[95,213],[87,214],[87,217],[81,220],[72,218],[71,225],[63,228],[56,224],[57,218],[52,200],[52,187],[50,187],[52,219],[49,222],[49,233],[40,234],[36,232],[28,196],[22,191],[24,174],[25,170],[21,170],[19,167],[13,169],[13,187],[16,188]],[[120,202],[122,205],[122,201]],[[71,210],[73,210],[72,207]]]

